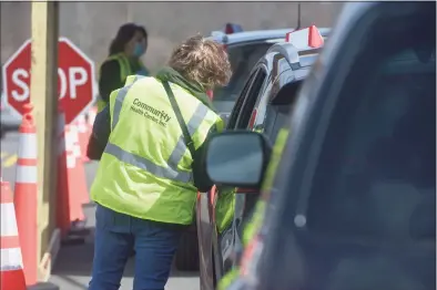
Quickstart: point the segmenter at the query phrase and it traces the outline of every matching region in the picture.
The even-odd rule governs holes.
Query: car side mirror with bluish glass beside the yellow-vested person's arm
[[[250,131],[215,134],[206,145],[205,169],[216,185],[260,188],[272,146]]]

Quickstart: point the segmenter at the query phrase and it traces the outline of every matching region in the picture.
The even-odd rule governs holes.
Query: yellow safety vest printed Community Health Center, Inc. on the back
[[[220,116],[181,86],[169,83],[199,148]],[[91,198],[114,211],[190,225],[197,188],[190,151],[160,80],[131,75],[110,95],[111,134]]]

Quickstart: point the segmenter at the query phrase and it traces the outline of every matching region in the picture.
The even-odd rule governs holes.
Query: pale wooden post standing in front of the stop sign
[[[38,138],[38,261],[49,250],[57,216],[57,154],[53,152],[57,152],[58,20],[59,2],[32,1],[30,101],[34,106]],[[40,271],[39,280],[49,271]]]

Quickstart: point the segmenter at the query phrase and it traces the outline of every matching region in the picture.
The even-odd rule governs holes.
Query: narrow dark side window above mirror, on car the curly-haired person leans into
[[[254,107],[256,101],[262,95],[262,89],[267,79],[267,73],[264,68],[260,68],[255,74],[253,83],[247,92],[247,96],[244,100],[244,104],[241,108],[241,113],[236,121],[235,128],[247,128],[250,123],[256,117],[254,114]]]

